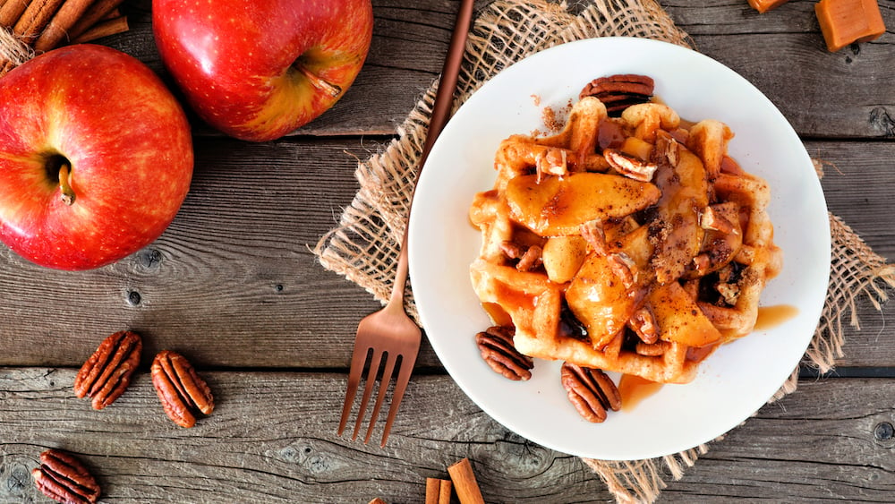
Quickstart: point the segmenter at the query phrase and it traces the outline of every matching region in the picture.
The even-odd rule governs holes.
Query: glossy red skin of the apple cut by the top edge
[[[370,0],[153,0],[159,54],[190,106],[235,138],[269,141],[310,122],[360,73]],[[315,86],[298,62],[337,95]]]

